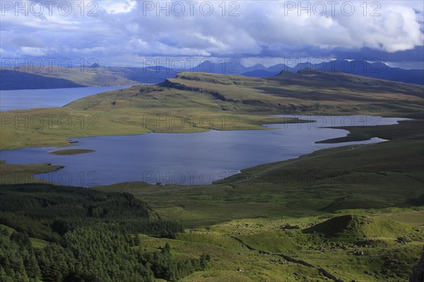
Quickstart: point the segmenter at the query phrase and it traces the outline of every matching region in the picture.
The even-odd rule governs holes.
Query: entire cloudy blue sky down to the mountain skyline
[[[366,59],[424,69],[423,1],[6,1],[1,64]],[[187,65],[188,66],[188,65]]]

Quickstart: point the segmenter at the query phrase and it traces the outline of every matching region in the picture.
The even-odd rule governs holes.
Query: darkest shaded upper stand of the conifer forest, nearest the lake
[[[69,230],[97,223],[169,238],[183,230],[160,220],[132,194],[49,184],[0,185],[0,224],[30,237],[55,242]]]

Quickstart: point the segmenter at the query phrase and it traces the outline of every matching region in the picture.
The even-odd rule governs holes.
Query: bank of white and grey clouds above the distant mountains
[[[72,13],[64,16],[59,11],[64,1],[54,2],[57,4],[49,6],[51,11],[45,9],[42,16],[1,11],[5,13],[0,28],[2,53],[43,56],[57,50],[59,57],[90,54],[107,64],[116,58],[158,55],[266,57],[271,52],[276,57],[287,50],[302,50],[299,56],[307,57],[305,47],[315,51],[369,47],[393,53],[424,44],[424,8],[420,1],[379,1],[380,16],[370,16],[370,6],[364,15],[360,6],[363,1],[354,2],[351,16],[341,12],[343,1],[334,16],[328,5],[325,16],[314,15],[314,11],[308,16],[307,11],[288,9],[287,1],[235,2],[239,6],[230,6],[227,1],[225,11],[221,1],[209,1],[214,5],[211,16],[204,15],[208,9],[201,10],[201,1],[192,9],[194,16],[187,1],[181,1],[185,12],[177,16],[179,10],[172,10],[172,4],[178,1],[173,1],[168,5],[170,16],[165,16],[158,7],[150,6],[147,11],[142,1],[88,0],[67,1]],[[291,3],[298,5],[298,1]],[[163,2],[160,5],[165,6]],[[97,16],[88,16],[91,10]],[[230,12],[239,16],[229,16]],[[13,38],[19,40],[12,42]]]

